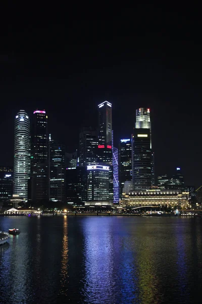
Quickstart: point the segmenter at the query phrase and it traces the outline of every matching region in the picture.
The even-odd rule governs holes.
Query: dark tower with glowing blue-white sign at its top
[[[132,180],[132,144],[131,138],[124,138],[119,143],[119,160],[120,160],[120,194],[122,194],[125,181]]]

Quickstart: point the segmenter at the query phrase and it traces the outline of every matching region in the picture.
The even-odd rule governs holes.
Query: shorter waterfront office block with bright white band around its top
[[[87,202],[85,205],[109,205],[109,166],[87,166]]]

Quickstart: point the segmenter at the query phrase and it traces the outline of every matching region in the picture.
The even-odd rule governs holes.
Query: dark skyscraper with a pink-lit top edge
[[[45,110],[33,112],[31,130],[31,200],[48,199],[48,130]]]

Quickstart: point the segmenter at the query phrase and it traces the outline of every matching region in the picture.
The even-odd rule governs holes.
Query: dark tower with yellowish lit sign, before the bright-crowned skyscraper
[[[149,189],[151,187],[151,150],[149,129],[134,129],[132,150],[134,189]]]

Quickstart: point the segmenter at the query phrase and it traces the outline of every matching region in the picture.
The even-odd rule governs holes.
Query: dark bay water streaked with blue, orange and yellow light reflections
[[[0,217],[0,303],[201,303],[202,219]]]

